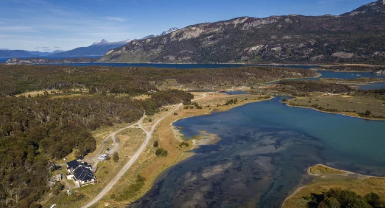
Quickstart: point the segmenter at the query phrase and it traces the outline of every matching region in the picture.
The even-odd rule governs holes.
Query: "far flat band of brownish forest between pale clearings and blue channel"
[[[312,70],[278,67],[242,67],[222,69],[160,69],[149,67],[103,66],[25,66],[0,65],[0,95],[13,96],[28,91],[87,88],[92,93],[131,95],[157,90],[176,81],[176,86],[191,89],[220,89],[250,85],[282,78],[313,77]]]

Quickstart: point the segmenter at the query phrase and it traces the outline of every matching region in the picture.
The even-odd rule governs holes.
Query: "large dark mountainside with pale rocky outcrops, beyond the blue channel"
[[[240,17],[136,40],[100,62],[385,62],[385,0],[340,16]]]

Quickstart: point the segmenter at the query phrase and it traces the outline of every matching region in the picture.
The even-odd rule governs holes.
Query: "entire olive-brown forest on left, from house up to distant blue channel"
[[[274,67],[180,70],[0,65],[0,207],[39,207],[39,199],[50,191],[50,161],[74,151],[77,155],[94,151],[90,131],[133,122],[144,112],[156,113],[162,105],[191,104],[192,94],[167,88],[214,89],[316,75],[312,70]],[[15,96],[50,89],[60,94]],[[151,97],[132,99],[139,94]]]

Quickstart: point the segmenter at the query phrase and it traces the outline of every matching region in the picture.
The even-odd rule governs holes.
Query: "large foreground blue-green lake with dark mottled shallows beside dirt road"
[[[317,163],[385,176],[383,121],[287,107],[281,97],[176,122],[187,137],[216,145],[163,173],[130,207],[280,207]]]

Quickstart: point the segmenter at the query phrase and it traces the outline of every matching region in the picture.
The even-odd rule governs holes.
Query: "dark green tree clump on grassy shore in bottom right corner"
[[[385,201],[378,194],[369,193],[364,196],[353,191],[330,189],[322,194],[306,196],[310,208],[383,208]]]

